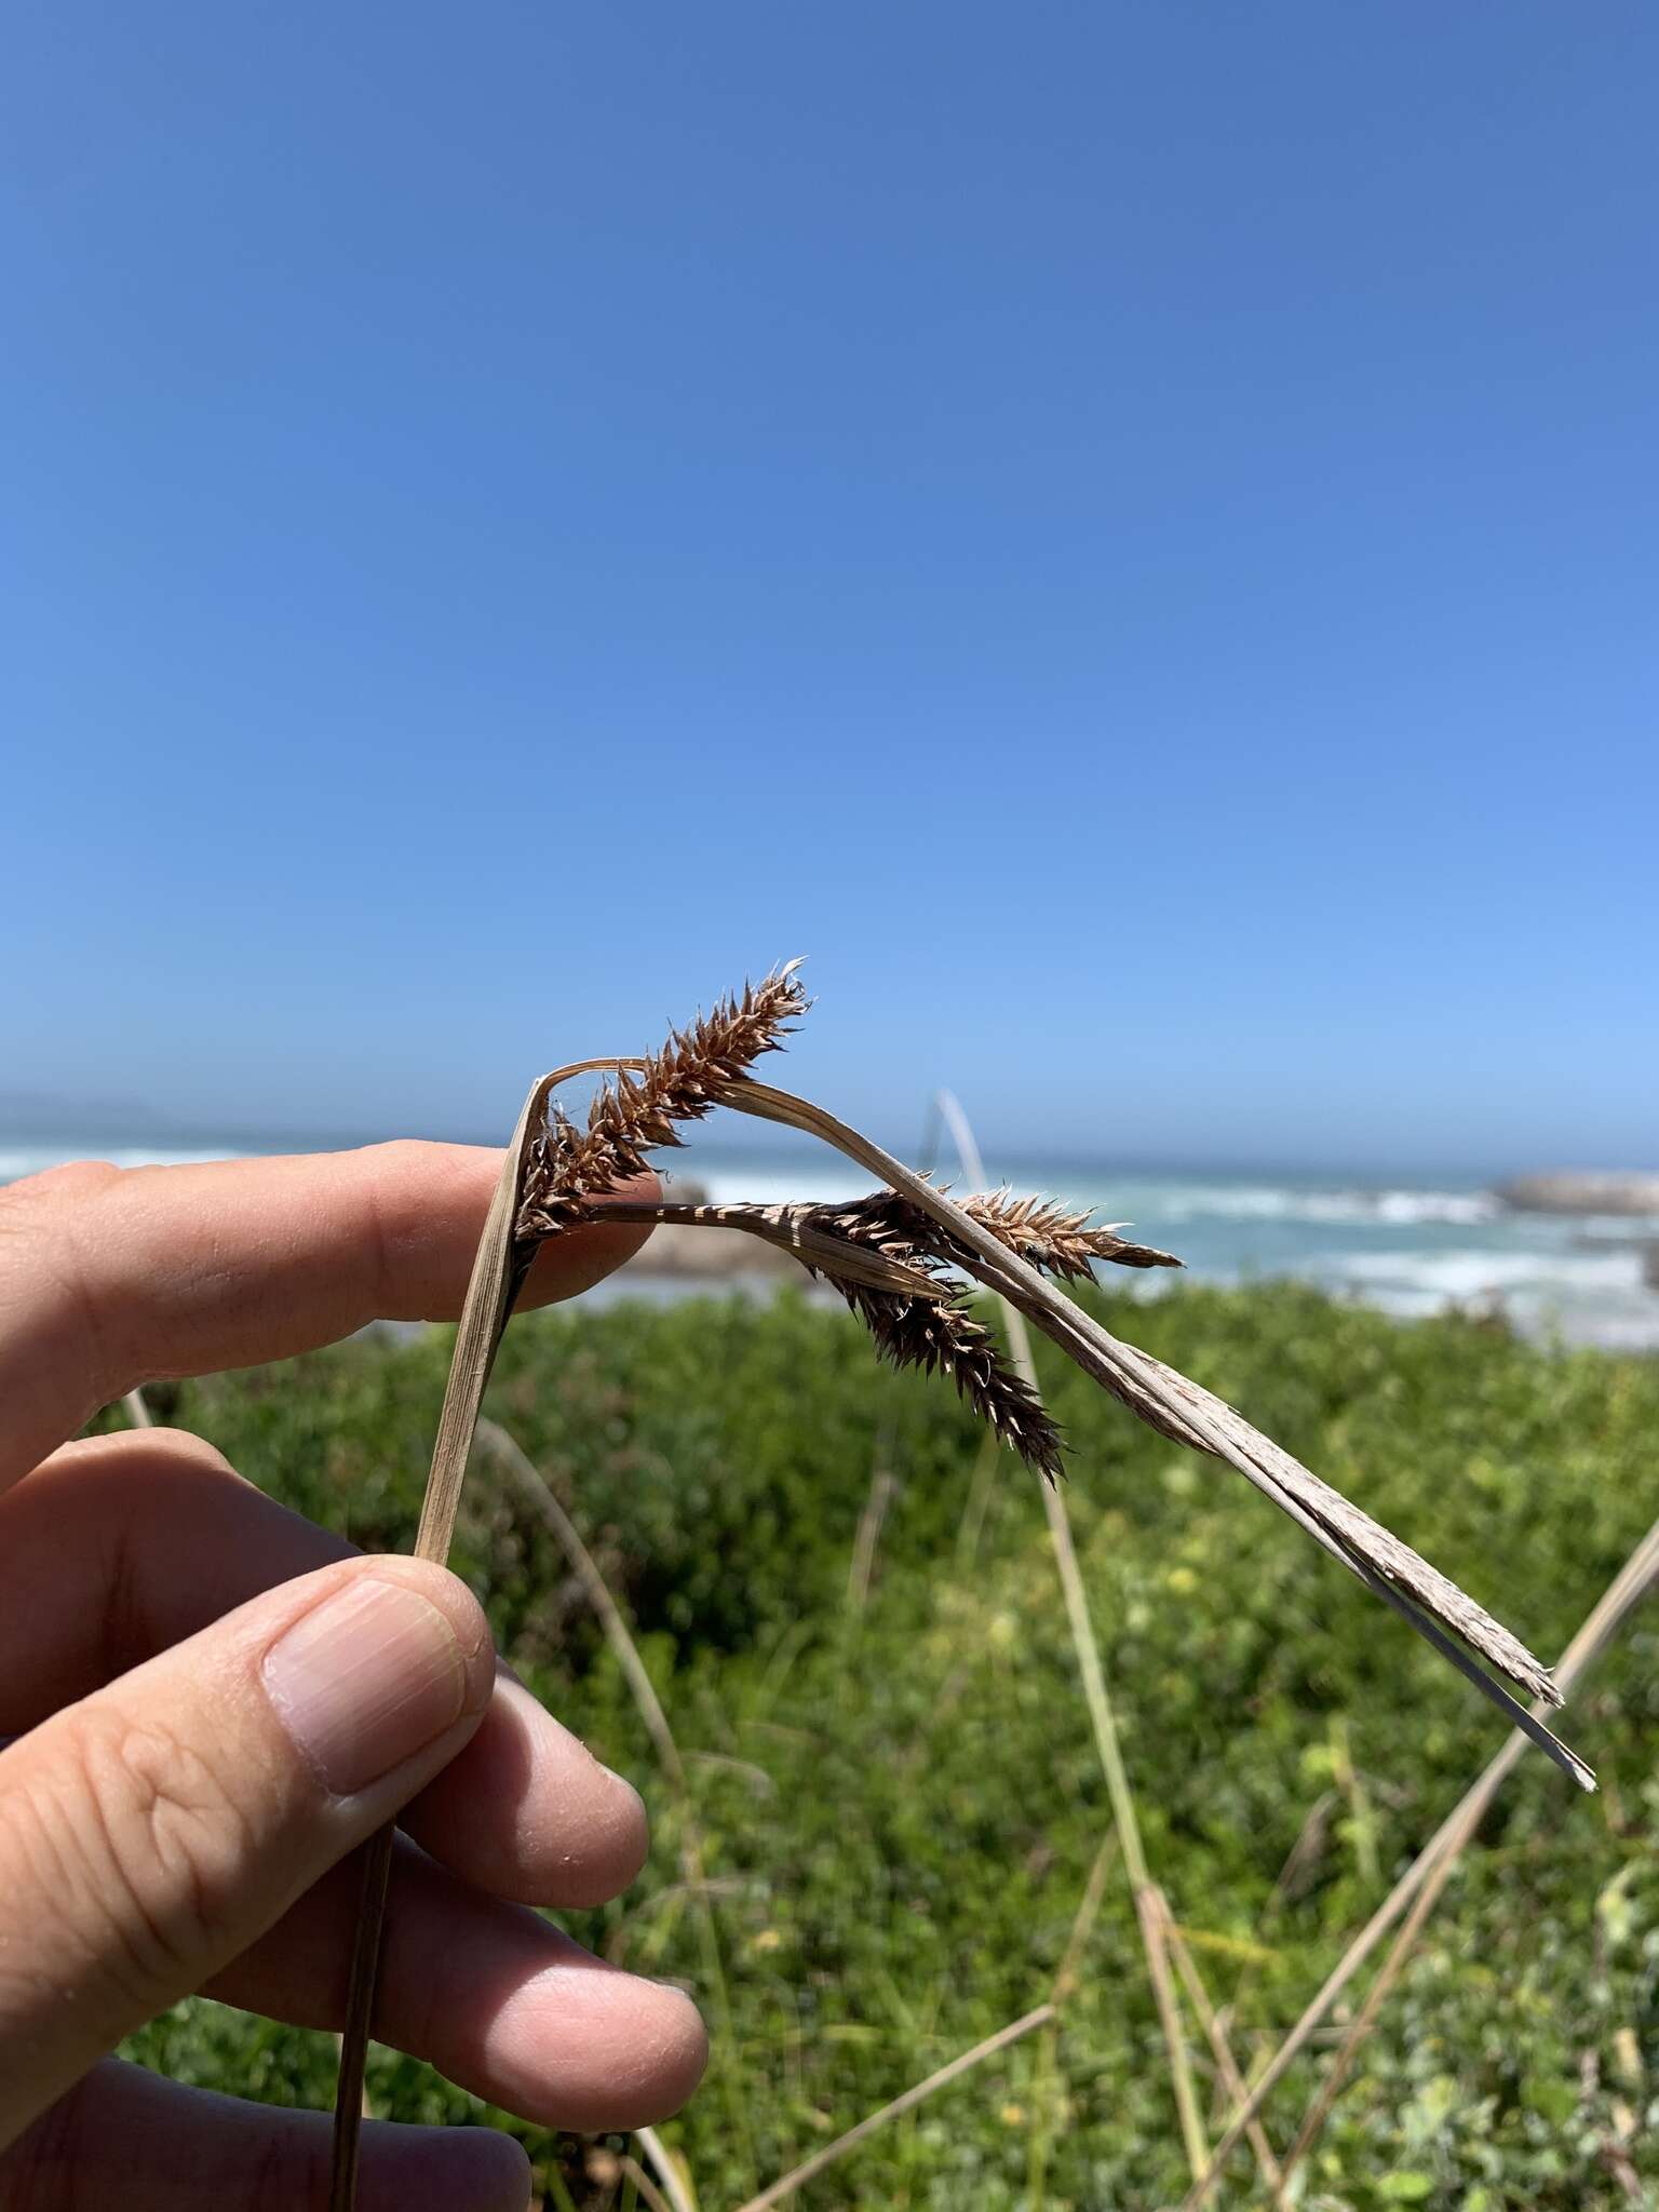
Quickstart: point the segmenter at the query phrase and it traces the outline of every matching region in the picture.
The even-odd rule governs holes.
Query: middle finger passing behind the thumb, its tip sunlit
[[[64,1444],[0,1495],[0,1734],[22,1734],[261,1590],[358,1555],[199,1438],[144,1429]],[[604,1905],[648,1847],[639,1794],[504,1668],[403,1825],[524,1905]]]

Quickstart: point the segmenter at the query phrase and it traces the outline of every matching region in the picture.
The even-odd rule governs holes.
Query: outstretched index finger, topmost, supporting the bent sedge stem
[[[135,1383],[288,1358],[369,1321],[458,1314],[500,1159],[378,1144],[206,1168],[82,1161],[7,1186],[0,1489]],[[526,1298],[575,1296],[646,1234],[549,1239]]]

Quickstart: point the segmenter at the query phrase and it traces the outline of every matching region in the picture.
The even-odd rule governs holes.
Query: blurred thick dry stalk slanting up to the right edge
[[[1624,1619],[1630,1610],[1641,1604],[1641,1599],[1659,1579],[1659,1522],[1644,1535],[1630,1557],[1624,1562],[1619,1573],[1606,1586],[1595,1608],[1586,1615],[1579,1632],[1562,1652],[1557,1666],[1557,1679],[1564,1694],[1571,1694],[1584,1674],[1595,1666],[1601,1652],[1608,1648],[1613,1637],[1619,1632]],[[1221,2166],[1234,2146],[1241,2141],[1245,2126],[1256,2117],[1274,2088],[1283,2081],[1285,2073],[1307,2048],[1310,2039],[1318,2031],[1321,2022],[1329,2015],[1336,2000],[1343,1995],[1347,1984],[1360,1971],[1365,1960],[1387,1936],[1400,1913],[1411,1905],[1411,1900],[1427,1887],[1433,1885],[1431,1896],[1438,1898],[1451,1876],[1458,1856],[1469,1845],[1471,1836],[1480,1827],[1491,1801],[1498,1796],[1509,1774],[1522,1756],[1524,1743],[1520,1736],[1506,1736],[1500,1750],[1493,1754],[1489,1765],[1482,1770],[1480,1778],[1469,1785],[1462,1798],[1453,1805],[1433,1836],[1425,1843],[1411,1865],[1405,1869],[1400,1880],[1378,1905],[1358,1936],[1343,1951],[1340,1960],[1327,1975],[1314,2002],[1301,2015],[1296,2026],[1283,2039],[1279,2051],[1274,2051],[1267,2068],[1256,2079],[1250,2097],[1232,2112],[1225,2132],[1217,2143],[1214,2168],[1210,2177],[1192,2188],[1181,2203],[1181,2212],[1197,2212],[1197,2208],[1208,2199],[1210,2188],[1221,2179]],[[1405,1936],[1405,1931],[1402,1931]],[[1405,1951],[1400,1951],[1405,1960]],[[1354,2048],[1358,2037],[1354,2037]],[[1345,2044],[1347,2048],[1347,2044]],[[1352,2055],[1352,2053],[1349,2053]],[[1340,2057],[1340,2053],[1338,2053]],[[1312,2137],[1310,2137],[1312,2141]]]

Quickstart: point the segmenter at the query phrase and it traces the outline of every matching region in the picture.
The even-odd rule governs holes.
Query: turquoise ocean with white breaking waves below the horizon
[[[135,1141],[86,1146],[55,1139],[0,1141],[0,1183],[53,1161],[95,1150],[119,1166],[223,1159],[303,1144],[250,1144],[248,1137],[192,1144]],[[688,1148],[677,1179],[710,1199],[832,1199],[869,1188],[852,1166],[827,1155]],[[949,1175],[949,1161],[940,1161]],[[1644,1283],[1644,1245],[1659,1243],[1659,1221],[1599,1214],[1511,1212],[1478,1181],[1413,1181],[1347,1175],[1221,1175],[1104,1161],[991,1157],[993,1183],[1037,1190],[1126,1221],[1141,1243],[1186,1261],[1203,1283],[1261,1283],[1290,1276],[1338,1298],[1413,1318],[1451,1305],[1502,1310],[1528,1336],[1571,1345],[1659,1349],[1659,1290]],[[1113,1274],[1144,1296],[1159,1296],[1170,1272]]]

